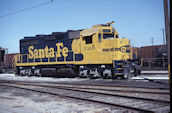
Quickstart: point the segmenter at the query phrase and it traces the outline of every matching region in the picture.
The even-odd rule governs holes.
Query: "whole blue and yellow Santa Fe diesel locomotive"
[[[128,78],[140,72],[130,41],[119,38],[114,22],[90,29],[24,37],[15,57],[17,75]],[[63,73],[63,74],[59,74]]]

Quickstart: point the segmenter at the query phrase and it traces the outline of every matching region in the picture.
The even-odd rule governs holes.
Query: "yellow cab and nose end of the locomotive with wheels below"
[[[128,78],[136,75],[138,60],[132,58],[130,42],[119,38],[112,23],[94,25],[81,31],[80,39],[75,43],[78,47],[73,47],[74,53],[79,52],[84,56],[82,61],[76,62],[80,65],[79,76]]]

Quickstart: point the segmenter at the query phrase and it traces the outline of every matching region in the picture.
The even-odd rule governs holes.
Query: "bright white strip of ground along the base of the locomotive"
[[[169,80],[168,74],[165,75],[141,75],[137,77],[130,78],[131,80]],[[75,82],[75,81],[85,81],[90,80],[89,78],[52,78],[52,77],[27,77],[27,76],[17,76],[14,74],[0,74],[0,80],[17,80],[17,81],[33,81],[33,82]],[[104,79],[95,79],[94,81],[100,81]],[[106,79],[106,81],[113,81],[112,79]]]

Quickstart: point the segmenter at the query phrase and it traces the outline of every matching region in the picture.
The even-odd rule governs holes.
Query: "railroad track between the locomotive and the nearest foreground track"
[[[27,85],[45,85],[45,86],[57,86],[66,88],[78,88],[78,89],[92,89],[92,90],[104,90],[115,92],[128,92],[128,93],[147,93],[147,94],[169,94],[169,88],[151,88],[151,87],[137,87],[137,86],[108,86],[108,85],[88,85],[88,84],[76,84],[76,83],[60,83],[60,82],[33,82],[33,81],[7,81],[0,80],[0,83],[16,83]]]

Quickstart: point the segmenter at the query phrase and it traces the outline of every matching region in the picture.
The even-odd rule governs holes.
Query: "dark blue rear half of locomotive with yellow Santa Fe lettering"
[[[76,59],[71,50],[71,32],[53,32],[21,39],[20,54],[15,57],[16,74],[75,77],[71,70],[73,60]]]

